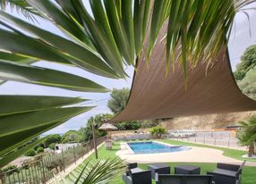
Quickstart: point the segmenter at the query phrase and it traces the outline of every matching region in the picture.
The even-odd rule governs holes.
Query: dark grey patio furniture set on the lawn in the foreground
[[[125,184],[240,184],[245,161],[241,165],[218,163],[215,171],[201,175],[201,167],[192,165],[175,166],[175,174],[166,163],[149,164],[148,170],[138,168],[137,163],[129,163],[122,176]]]

